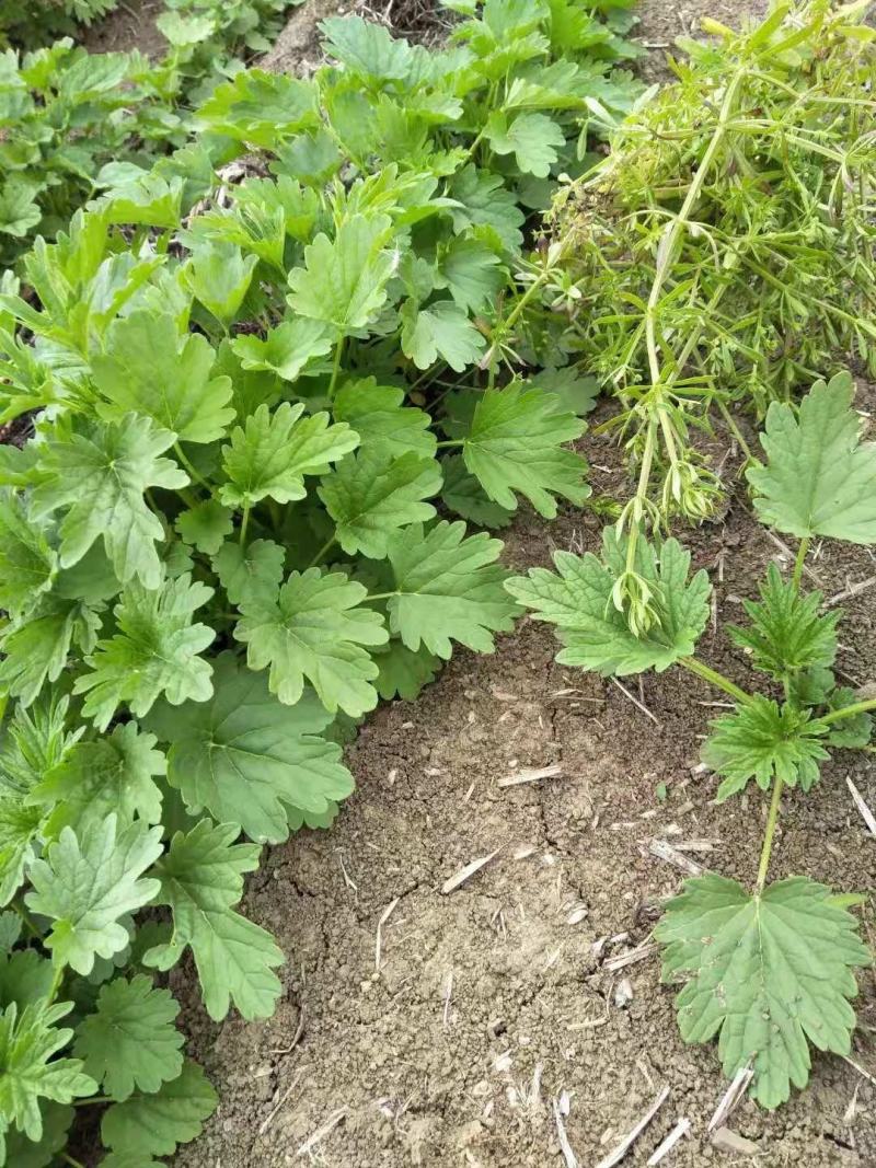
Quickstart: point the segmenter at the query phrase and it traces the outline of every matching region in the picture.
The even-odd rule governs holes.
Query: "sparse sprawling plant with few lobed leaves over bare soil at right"
[[[515,599],[557,625],[559,661],[604,675],[677,663],[734,698],[732,711],[711,724],[703,759],[722,780],[718,801],[751,779],[773,791],[758,883],[751,894],[715,875],[688,881],[655,936],[665,978],[688,979],[677,999],[682,1036],[719,1035],[725,1073],[750,1065],[752,1093],[766,1107],[806,1085],[809,1045],[849,1054],[851,971],[871,961],[848,911],[855,897],[800,876],[765,882],[783,788],[808,791],[832,749],[865,746],[872,732],[876,701],[855,701],[832,670],[841,614],[799,586],[809,540],[876,543],[876,444],[860,440],[853,392],[850,376],[839,374],[813,385],[799,409],[774,402],[762,437],[766,463],[748,472],[758,516],[801,541],[793,578],[771,566],[759,599],[745,603],[748,623],[729,630],[766,675],[763,691],[749,694],[691,656],[709,619],[710,584],[703,570],[690,576],[690,556],[675,540],[635,548],[653,617],[638,635],[616,598],[627,549],[613,530],[602,557],[559,551],[556,573],[538,568],[507,582]]]

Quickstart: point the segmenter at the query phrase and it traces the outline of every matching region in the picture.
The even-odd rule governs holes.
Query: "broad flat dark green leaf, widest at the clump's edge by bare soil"
[[[161,703],[148,725],[171,743],[171,785],[192,814],[206,808],[239,823],[251,840],[279,843],[288,836],[288,809],[325,815],[353,791],[341,750],[320,737],[332,715],[312,690],[280,704],[264,674],[218,658],[210,702]]]

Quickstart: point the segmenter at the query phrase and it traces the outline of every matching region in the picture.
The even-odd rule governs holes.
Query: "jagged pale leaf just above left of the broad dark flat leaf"
[[[148,591],[137,582],[114,609],[118,632],[97,642],[86,658],[90,673],[76,679],[74,693],[86,694],[83,714],[105,730],[124,702],[142,717],[162,694],[173,705],[187,698],[204,702],[213,693],[211,667],[197,654],[215,632],[192,624],[193,613],[213,589],[192,582],[188,573]]]

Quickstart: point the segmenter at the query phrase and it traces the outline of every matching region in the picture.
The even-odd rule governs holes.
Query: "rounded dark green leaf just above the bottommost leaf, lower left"
[[[179,1013],[169,989],[155,989],[145,974],[116,978],[100,987],[93,1014],[79,1023],[74,1054],[111,1099],[160,1091],[182,1070]]]

